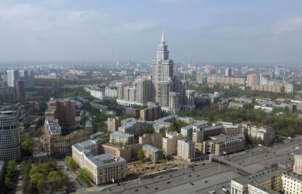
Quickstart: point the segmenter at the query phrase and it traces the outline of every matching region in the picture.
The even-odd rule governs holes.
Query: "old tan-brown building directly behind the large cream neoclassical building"
[[[73,144],[90,139],[90,132],[77,130],[66,136],[55,136],[49,139],[50,155],[69,155]]]

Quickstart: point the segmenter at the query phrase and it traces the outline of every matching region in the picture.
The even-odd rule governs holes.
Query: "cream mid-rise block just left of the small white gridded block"
[[[166,136],[162,138],[162,151],[164,155],[177,155],[177,140],[182,139],[182,134],[176,131],[166,132]]]

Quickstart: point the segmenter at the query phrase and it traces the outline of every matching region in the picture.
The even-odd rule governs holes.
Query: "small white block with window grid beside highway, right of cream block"
[[[185,159],[195,157],[195,142],[191,139],[178,139],[177,156]]]

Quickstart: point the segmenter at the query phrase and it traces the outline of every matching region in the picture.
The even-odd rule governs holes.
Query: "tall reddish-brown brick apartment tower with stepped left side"
[[[45,111],[45,120],[58,119],[62,129],[76,128],[76,101],[75,99],[51,98],[48,109]]]

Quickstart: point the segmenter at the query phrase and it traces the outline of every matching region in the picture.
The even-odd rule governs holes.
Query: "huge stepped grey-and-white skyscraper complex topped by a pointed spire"
[[[178,81],[173,75],[174,61],[169,59],[168,45],[165,44],[164,34],[156,51],[157,58],[152,61],[152,76],[137,79],[132,86],[117,83],[117,103],[122,105],[147,105],[148,102],[159,102],[163,111],[176,113],[181,109],[195,109],[193,104],[186,100],[189,82]],[[171,93],[170,92],[176,92]],[[170,103],[171,100],[171,103]],[[178,103],[176,103],[178,101]]]

